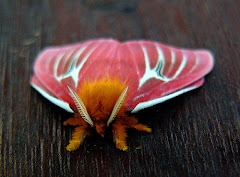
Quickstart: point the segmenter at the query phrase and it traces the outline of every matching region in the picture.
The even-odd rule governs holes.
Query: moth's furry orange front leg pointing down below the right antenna
[[[116,143],[116,148],[123,151],[128,149],[126,128],[126,126],[118,123],[113,123],[112,125],[113,141]]]

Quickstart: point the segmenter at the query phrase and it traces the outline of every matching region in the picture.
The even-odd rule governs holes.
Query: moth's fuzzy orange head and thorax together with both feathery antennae
[[[123,106],[128,87],[114,80],[85,83],[80,93],[68,89],[81,118],[103,137]]]

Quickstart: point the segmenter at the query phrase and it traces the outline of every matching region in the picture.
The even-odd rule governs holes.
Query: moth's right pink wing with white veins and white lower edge
[[[118,52],[119,59],[131,65],[122,66],[122,70],[128,73],[127,109],[132,112],[201,86],[214,62],[207,50],[179,49],[147,41],[123,43]]]

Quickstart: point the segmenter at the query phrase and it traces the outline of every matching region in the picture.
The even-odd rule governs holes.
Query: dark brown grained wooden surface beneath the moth
[[[239,176],[240,1],[114,6],[1,0],[0,176]],[[34,59],[46,46],[96,37],[207,48],[216,63],[200,89],[137,114],[153,132],[129,131],[127,152],[111,135],[67,152],[71,115],[30,87]]]

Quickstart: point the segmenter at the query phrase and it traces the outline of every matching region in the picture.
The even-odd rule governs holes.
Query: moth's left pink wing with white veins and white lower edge
[[[47,48],[36,59],[31,85],[52,103],[73,112],[77,109],[67,86],[76,90],[85,79],[104,75],[101,67],[111,63],[117,46],[115,40],[102,39]]]

